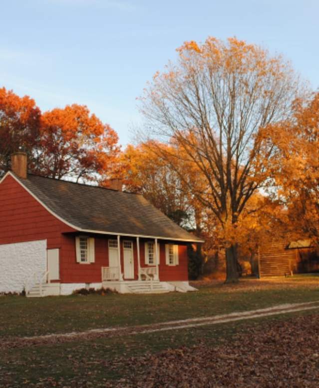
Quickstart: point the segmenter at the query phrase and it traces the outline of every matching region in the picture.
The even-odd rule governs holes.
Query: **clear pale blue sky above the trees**
[[[136,97],[183,41],[236,36],[319,87],[318,0],[4,0],[0,86],[42,110],[86,104],[126,144]]]

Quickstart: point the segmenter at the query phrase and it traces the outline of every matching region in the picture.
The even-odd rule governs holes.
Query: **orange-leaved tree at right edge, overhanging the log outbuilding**
[[[287,228],[295,231],[295,238],[299,234],[318,244],[319,93],[297,99],[293,106],[290,120],[265,128],[260,138],[274,147],[267,166],[288,210]]]

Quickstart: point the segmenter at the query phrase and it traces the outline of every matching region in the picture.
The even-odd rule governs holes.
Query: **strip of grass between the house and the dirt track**
[[[193,293],[0,297],[0,338],[133,326],[319,300],[316,281],[212,282]]]

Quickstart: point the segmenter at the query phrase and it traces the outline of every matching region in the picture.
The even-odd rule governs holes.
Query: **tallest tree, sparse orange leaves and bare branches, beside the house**
[[[183,173],[179,178],[218,220],[226,281],[235,282],[238,245],[230,231],[267,180],[256,135],[291,115],[299,81],[282,57],[236,38],[185,42],[178,53],[178,62],[157,72],[145,88],[141,112],[148,137],[173,139],[183,159],[201,171],[204,190],[192,187]],[[174,168],[167,153],[162,157]]]

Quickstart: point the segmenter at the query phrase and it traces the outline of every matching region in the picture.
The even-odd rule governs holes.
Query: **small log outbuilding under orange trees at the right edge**
[[[262,246],[258,260],[261,278],[319,272],[318,247],[310,240]]]

